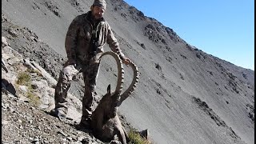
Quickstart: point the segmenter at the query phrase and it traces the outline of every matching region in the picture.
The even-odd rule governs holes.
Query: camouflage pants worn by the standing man
[[[54,100],[55,109],[61,109],[65,113],[68,110],[67,92],[70,89],[70,82],[74,76],[82,72],[85,83],[85,93],[82,98],[82,119],[90,118],[94,104],[96,80],[98,77],[99,63],[85,64],[77,63],[76,66],[65,64],[60,72],[58,83],[55,88]]]

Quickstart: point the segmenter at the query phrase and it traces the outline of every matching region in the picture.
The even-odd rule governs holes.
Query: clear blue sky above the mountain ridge
[[[254,70],[254,0],[125,0],[199,50]]]

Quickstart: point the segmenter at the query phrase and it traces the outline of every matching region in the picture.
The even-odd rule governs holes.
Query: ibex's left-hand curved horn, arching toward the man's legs
[[[102,58],[102,56],[106,55],[106,54],[109,54],[111,56],[114,57],[114,59],[116,60],[117,62],[117,65],[118,65],[118,83],[117,83],[117,86],[115,88],[115,93],[120,95],[121,92],[122,92],[122,86],[123,86],[123,79],[124,79],[124,69],[123,69],[123,66],[122,66],[122,60],[120,59],[120,57],[118,56],[118,54],[114,53],[113,51],[106,51],[104,52],[100,59]]]

